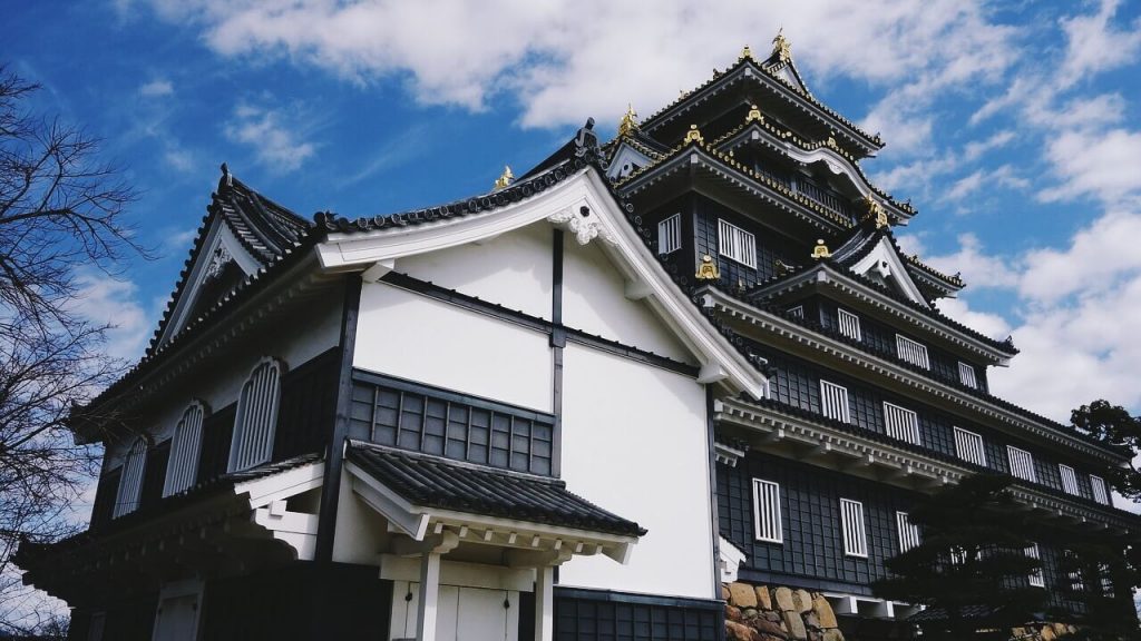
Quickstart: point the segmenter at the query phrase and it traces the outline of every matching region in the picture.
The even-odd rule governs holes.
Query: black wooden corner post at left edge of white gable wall
[[[337,380],[337,416],[329,435],[325,455],[325,479],[321,486],[321,513],[317,517],[317,546],[314,560],[332,562],[337,503],[341,490],[341,468],[345,464],[345,439],[349,432],[353,405],[353,351],[356,347],[357,319],[361,315],[361,276],[345,275],[345,307],[341,314],[341,362]],[[397,438],[399,432],[397,431]]]

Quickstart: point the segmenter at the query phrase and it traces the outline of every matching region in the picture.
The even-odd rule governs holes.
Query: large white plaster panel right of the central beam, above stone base
[[[559,584],[714,598],[704,388],[575,344],[564,363],[567,489],[649,533],[628,566],[576,557]]]

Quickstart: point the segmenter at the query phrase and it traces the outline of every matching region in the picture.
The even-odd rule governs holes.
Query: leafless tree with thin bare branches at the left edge
[[[107,327],[81,314],[79,277],[146,254],[123,221],[133,189],[99,139],[26,107],[37,90],[0,66],[0,634],[51,624],[11,554],[81,527],[73,505],[100,453],[67,416],[122,373],[100,351]]]

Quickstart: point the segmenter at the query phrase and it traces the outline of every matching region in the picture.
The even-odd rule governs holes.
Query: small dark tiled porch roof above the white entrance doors
[[[623,536],[646,534],[638,524],[572,494],[558,479],[361,441],[350,441],[346,457],[414,505]]]

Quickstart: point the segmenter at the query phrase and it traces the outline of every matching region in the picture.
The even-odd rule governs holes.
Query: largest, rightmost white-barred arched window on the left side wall
[[[242,386],[237,397],[237,416],[234,419],[234,440],[229,446],[228,471],[245,470],[273,456],[281,371],[280,362],[262,359]]]

